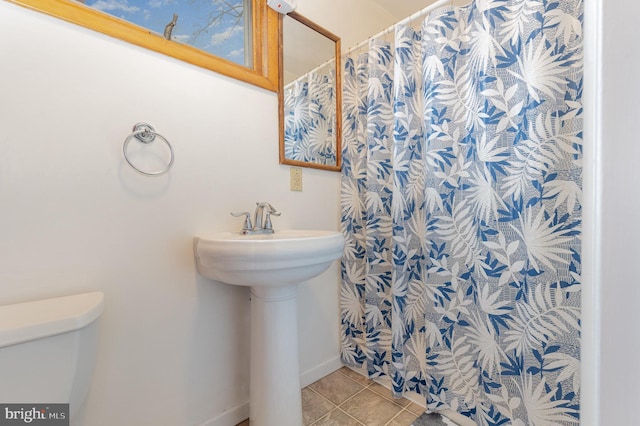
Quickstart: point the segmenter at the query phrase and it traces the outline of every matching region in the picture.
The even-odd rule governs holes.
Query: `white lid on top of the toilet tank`
[[[0,306],[0,348],[78,330],[98,318],[103,308],[102,292]]]

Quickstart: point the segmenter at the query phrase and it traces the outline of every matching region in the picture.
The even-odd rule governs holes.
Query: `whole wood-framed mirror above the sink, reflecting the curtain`
[[[284,17],[280,163],[340,170],[340,38],[302,15]]]

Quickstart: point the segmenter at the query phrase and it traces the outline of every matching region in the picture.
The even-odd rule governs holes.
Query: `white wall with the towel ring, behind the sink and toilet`
[[[300,11],[347,46],[378,31],[351,22],[384,16],[367,0],[346,2],[349,16],[315,3]],[[239,229],[229,212],[256,201],[282,211],[276,227],[337,230],[339,174],[305,169],[304,191],[289,191],[277,98],[254,86],[4,1],[0,56],[0,304],[107,298],[79,423],[245,418],[248,292],[201,278],[192,239]],[[124,163],[140,121],[173,144],[167,176]],[[339,366],[338,282],[334,265],[300,287],[303,383]]]

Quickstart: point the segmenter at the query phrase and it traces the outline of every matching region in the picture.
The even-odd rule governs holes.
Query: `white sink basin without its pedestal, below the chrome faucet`
[[[340,258],[343,247],[341,233],[310,230],[255,235],[222,232],[194,242],[201,275],[250,287],[286,286],[313,278]]]

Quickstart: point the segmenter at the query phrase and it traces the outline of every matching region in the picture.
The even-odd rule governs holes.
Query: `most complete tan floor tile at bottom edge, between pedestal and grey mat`
[[[349,399],[340,408],[367,426],[383,426],[402,411],[402,407],[369,389]]]

